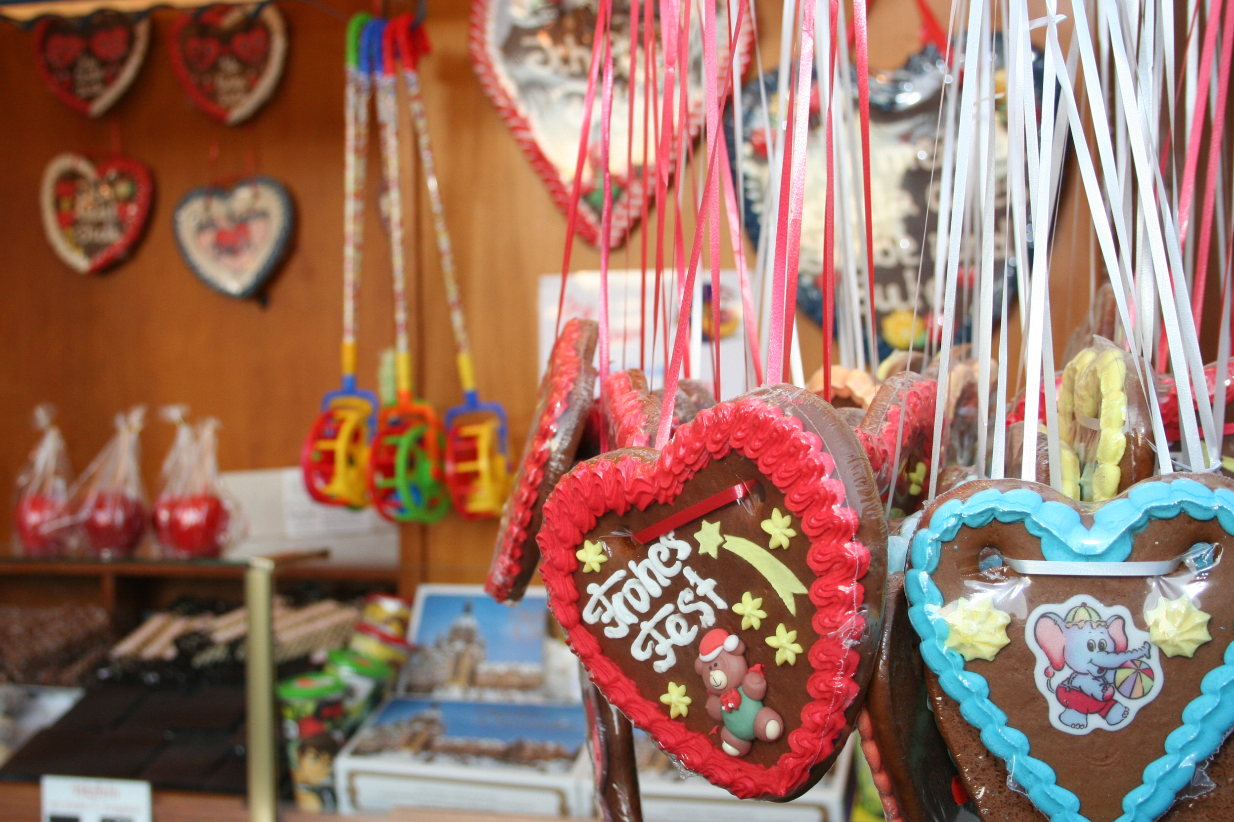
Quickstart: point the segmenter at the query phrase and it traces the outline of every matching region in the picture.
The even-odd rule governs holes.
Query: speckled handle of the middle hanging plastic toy
[[[394,28],[374,21],[365,31],[378,73],[378,122],[381,124],[381,164],[390,206],[390,271],[394,279],[395,383],[400,402],[411,401],[411,346],[407,343],[407,277],[402,253],[402,189],[399,186],[399,99],[395,87]]]

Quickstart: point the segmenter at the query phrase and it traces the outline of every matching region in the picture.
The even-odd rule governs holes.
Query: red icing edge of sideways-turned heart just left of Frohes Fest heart
[[[523,458],[518,465],[515,487],[506,500],[501,526],[497,530],[497,552],[492,557],[492,567],[489,568],[489,578],[484,585],[489,595],[499,603],[510,599],[511,587],[522,572],[523,546],[529,540],[536,539],[536,535],[528,534],[527,529],[536,513],[536,505],[540,502],[544,466],[553,450],[564,445],[554,442],[560,431],[559,423],[570,408],[570,394],[574,392],[584,367],[590,365],[590,362],[582,361],[579,352],[585,329],[582,320],[568,320],[561,328],[561,335],[553,345],[553,354],[549,356],[548,372],[544,377],[548,397],[544,402],[544,409],[536,420],[533,434],[523,449]],[[586,402],[590,408],[590,393]]]

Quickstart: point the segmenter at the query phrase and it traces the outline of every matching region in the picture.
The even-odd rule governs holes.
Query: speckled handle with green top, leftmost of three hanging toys
[[[343,155],[343,388],[355,389],[355,299],[360,288],[360,248],[364,242],[364,148],[369,142],[371,67],[360,39],[371,15],[354,15],[347,25],[347,90]]]

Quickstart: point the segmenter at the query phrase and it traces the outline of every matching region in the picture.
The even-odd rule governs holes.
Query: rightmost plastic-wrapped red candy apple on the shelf
[[[163,492],[154,505],[154,530],[164,555],[181,560],[213,558],[242,539],[244,518],[218,481],[218,420],[196,426],[183,412],[170,412],[175,441],[163,462]]]

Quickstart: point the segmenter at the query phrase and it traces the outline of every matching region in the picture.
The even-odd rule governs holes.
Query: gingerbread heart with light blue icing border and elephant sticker
[[[919,548],[927,552],[926,556],[937,557],[938,564],[929,579],[944,603],[940,614],[956,608],[960,598],[987,590],[995,593],[993,608],[1007,620],[1006,641],[985,646],[983,653],[974,651],[970,658],[963,645],[954,646],[964,653],[965,674],[980,674],[981,682],[988,685],[988,701],[1004,714],[1006,726],[1027,737],[1028,754],[1053,769],[1056,787],[1079,799],[1079,813],[1083,818],[1112,822],[1123,817],[1127,802],[1148,815],[1137,818],[1154,818],[1160,811],[1140,805],[1146,796],[1141,783],[1151,783],[1157,790],[1174,790],[1160,786],[1177,784],[1185,794],[1199,794],[1175,799],[1160,820],[1218,822],[1234,818],[1234,751],[1228,741],[1220,742],[1229,725],[1229,710],[1213,701],[1218,695],[1228,696],[1224,684],[1228,677],[1214,672],[1222,668],[1234,638],[1229,630],[1234,622],[1234,598],[1229,596],[1234,589],[1234,563],[1224,558],[1224,551],[1234,547],[1234,536],[1220,525],[1218,516],[1202,518],[1208,510],[1217,513],[1215,507],[1224,504],[1220,495],[1206,489],[1230,492],[1234,483],[1215,474],[1160,477],[1106,503],[1103,508],[1119,505],[1119,516],[1111,519],[1111,509],[1098,521],[1095,518],[1102,516],[1102,508],[1081,507],[1049,487],[1021,481],[977,481],[938,497],[927,508],[921,529],[928,530],[932,519],[954,500],[960,500],[961,507],[948,505],[946,516],[964,516],[964,503],[987,489],[1003,494],[1027,489],[1040,495],[1045,505],[1034,508],[1038,513],[1033,516],[1038,523],[1054,523],[1049,532],[1059,532],[1060,527],[1069,532],[1062,523],[1071,520],[1046,507],[1061,504],[1074,509],[1077,525],[1097,535],[1086,542],[1090,551],[1122,545],[1113,540],[1125,527],[1129,529],[1129,553],[1118,561],[1174,562],[1183,557],[1186,562],[1175,563],[1171,567],[1176,569],[1161,577],[1151,577],[1149,571],[1144,571],[1144,576],[1061,576],[1035,568],[1019,573],[1011,563],[1045,558],[1040,540],[1013,516],[985,520],[983,514],[975,513],[977,519],[974,521],[980,525],[963,524],[954,539],[945,539],[940,545],[922,543]],[[993,504],[988,494],[979,499],[983,500],[982,507]],[[1006,508],[1012,503],[998,504]],[[1222,510],[1220,516],[1227,516],[1229,509]],[[1058,537],[1051,539],[1058,541]],[[937,550],[930,545],[938,545]],[[916,546],[914,542],[914,551]],[[1058,552],[1061,550],[1051,548],[1051,558],[1060,561]],[[1128,569],[1140,573],[1134,567]],[[1160,592],[1161,596],[1155,596],[1154,592]],[[1183,611],[1195,610],[1171,621],[1150,621],[1160,619],[1149,614],[1156,612],[1167,598]],[[1186,604],[1180,605],[1185,600]],[[1198,621],[1197,615],[1202,617]],[[1080,633],[1085,631],[1087,633]],[[1074,632],[1079,638],[1072,645]],[[970,641],[966,636],[971,635],[960,636],[961,643]],[[1087,646],[1088,656],[1085,656],[1085,636],[1092,642]],[[1107,641],[1111,642],[1108,647]],[[1102,654],[1107,651],[1113,662],[1104,662]],[[1116,657],[1128,658],[1128,662],[1119,665]],[[1112,667],[1088,669],[1090,663],[1085,659]],[[1064,677],[1064,672],[1070,675]],[[1214,675],[1217,680],[1212,680]],[[1083,696],[1085,677],[1109,683],[1108,690],[1098,688],[1101,700]],[[967,682],[977,682],[977,678],[970,677]],[[1202,682],[1207,696],[1199,699]],[[1018,737],[988,725],[990,736],[983,737],[981,728],[970,720],[982,721],[980,717],[990,716],[987,709],[974,700],[961,715],[959,704],[944,691],[937,672],[927,672],[926,686],[938,728],[981,818],[1011,822],[1049,818],[1028,796],[1008,787],[1006,763],[982,741]],[[874,693],[871,710],[876,704]],[[961,688],[960,693],[964,699],[972,699],[971,691]],[[1199,728],[1207,735],[1218,735],[1206,738],[1211,744],[1220,744],[1215,755],[1203,763],[1214,785],[1212,789],[1206,789],[1206,780],[1199,778],[1187,787],[1190,773],[1182,775],[1181,781],[1174,781],[1180,763],[1169,753],[1185,752],[1191,741],[1201,738]],[[1030,776],[1040,779],[1033,776],[1041,773],[1039,768],[1034,770],[1029,763],[1022,768],[1017,781],[1028,781]],[[1038,785],[1025,790],[1044,791],[1045,787]],[[1044,792],[1035,795],[1045,796]],[[1067,800],[1060,797],[1059,801]]]

